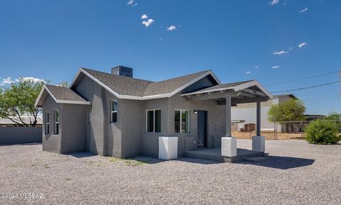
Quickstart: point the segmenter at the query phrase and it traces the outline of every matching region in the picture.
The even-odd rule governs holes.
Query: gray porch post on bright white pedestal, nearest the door
[[[226,96],[226,134],[222,138],[222,156],[237,156],[237,140],[231,135],[231,96]]]

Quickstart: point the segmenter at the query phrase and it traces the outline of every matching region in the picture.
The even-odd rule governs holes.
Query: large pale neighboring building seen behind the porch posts
[[[269,101],[261,102],[261,131],[274,131],[274,123],[268,121],[268,111],[274,104],[280,104],[283,101],[290,99],[298,99],[293,94],[280,94],[274,95],[273,99]],[[256,104],[239,104],[238,106],[232,107],[231,113],[233,131],[249,131],[245,125],[256,123]],[[281,125],[276,125],[276,129],[281,131]],[[252,130],[252,129],[251,129]]]

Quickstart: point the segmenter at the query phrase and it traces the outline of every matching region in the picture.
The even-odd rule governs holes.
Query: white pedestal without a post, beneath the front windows
[[[158,158],[161,160],[178,158],[178,137],[158,137]]]

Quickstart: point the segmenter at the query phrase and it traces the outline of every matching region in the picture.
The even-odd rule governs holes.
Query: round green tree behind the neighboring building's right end
[[[305,110],[303,101],[290,99],[280,104],[272,105],[268,111],[268,120],[271,122],[302,121],[305,120]],[[288,132],[288,123],[284,124],[286,132]],[[291,130],[293,130],[293,123],[290,123],[290,125]]]

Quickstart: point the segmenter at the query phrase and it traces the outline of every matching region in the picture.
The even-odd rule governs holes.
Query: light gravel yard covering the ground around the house
[[[41,194],[0,204],[341,204],[341,145],[267,140],[266,152],[264,162],[230,164],[0,146],[0,194]]]

